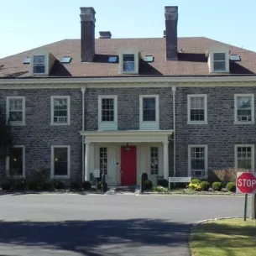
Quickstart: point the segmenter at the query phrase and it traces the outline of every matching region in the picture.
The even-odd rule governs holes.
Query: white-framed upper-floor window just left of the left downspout
[[[51,102],[51,125],[71,124],[71,97],[52,96]]]

